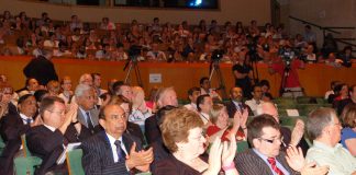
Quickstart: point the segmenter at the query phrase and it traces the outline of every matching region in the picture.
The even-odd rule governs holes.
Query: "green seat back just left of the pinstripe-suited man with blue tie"
[[[81,164],[82,150],[75,149],[67,152],[67,167],[69,175],[85,175]]]

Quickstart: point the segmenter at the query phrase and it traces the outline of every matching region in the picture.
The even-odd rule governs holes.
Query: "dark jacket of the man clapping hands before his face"
[[[36,174],[44,174],[48,171],[65,172],[66,164],[56,165],[56,161],[64,151],[63,144],[68,142],[78,142],[90,136],[85,127],[78,135],[73,125],[69,125],[65,135],[56,129],[54,132],[45,126],[36,126],[26,133],[27,147],[31,153],[43,160]]]

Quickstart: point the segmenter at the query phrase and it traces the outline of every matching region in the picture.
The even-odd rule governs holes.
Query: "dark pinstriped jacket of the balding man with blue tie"
[[[142,150],[142,143],[136,137],[124,133],[122,139],[127,152],[130,152],[133,142],[136,142],[136,151]],[[84,141],[81,149],[86,175],[129,174],[125,162],[114,162],[110,141],[104,131]]]

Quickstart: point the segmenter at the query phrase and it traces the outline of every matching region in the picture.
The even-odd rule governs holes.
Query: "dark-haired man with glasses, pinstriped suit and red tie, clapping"
[[[301,150],[294,147],[288,149],[287,156],[280,152],[281,133],[279,124],[269,115],[255,117],[247,126],[248,149],[235,156],[235,166],[244,175],[324,175],[327,167],[313,168],[305,164]]]

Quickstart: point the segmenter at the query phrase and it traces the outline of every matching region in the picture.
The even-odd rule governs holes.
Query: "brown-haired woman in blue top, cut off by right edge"
[[[348,104],[341,115],[344,129],[342,130],[341,143],[354,156],[356,156],[356,104]]]

